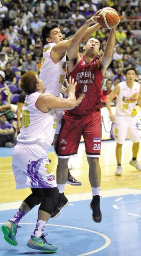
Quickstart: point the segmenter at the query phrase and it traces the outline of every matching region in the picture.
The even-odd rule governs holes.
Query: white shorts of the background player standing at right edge
[[[133,143],[141,141],[136,116],[115,115],[113,136],[118,144],[123,144],[125,139],[131,139]]]

